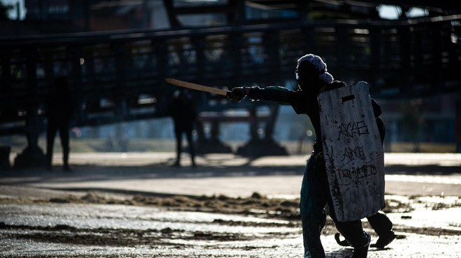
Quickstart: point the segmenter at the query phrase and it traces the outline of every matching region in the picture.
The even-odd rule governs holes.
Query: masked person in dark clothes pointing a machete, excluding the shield
[[[228,98],[241,101],[248,96],[251,100],[270,100],[281,105],[291,105],[297,114],[307,114],[316,132],[314,151],[305,167],[300,192],[300,212],[302,220],[302,235],[304,242],[304,257],[325,257],[321,243],[321,230],[325,226],[325,206],[330,206],[330,217],[347,243],[353,247],[353,258],[367,257],[370,236],[363,231],[360,219],[339,221],[332,207],[332,196],[325,172],[323,146],[321,141],[321,121],[317,96],[323,91],[329,91],[346,86],[346,83],[335,81],[327,72],[327,66],[320,56],[307,54],[298,59],[295,70],[298,89],[292,91],[281,86],[268,86],[263,89],[258,86],[235,87]],[[381,108],[372,100],[374,115],[381,114]]]

